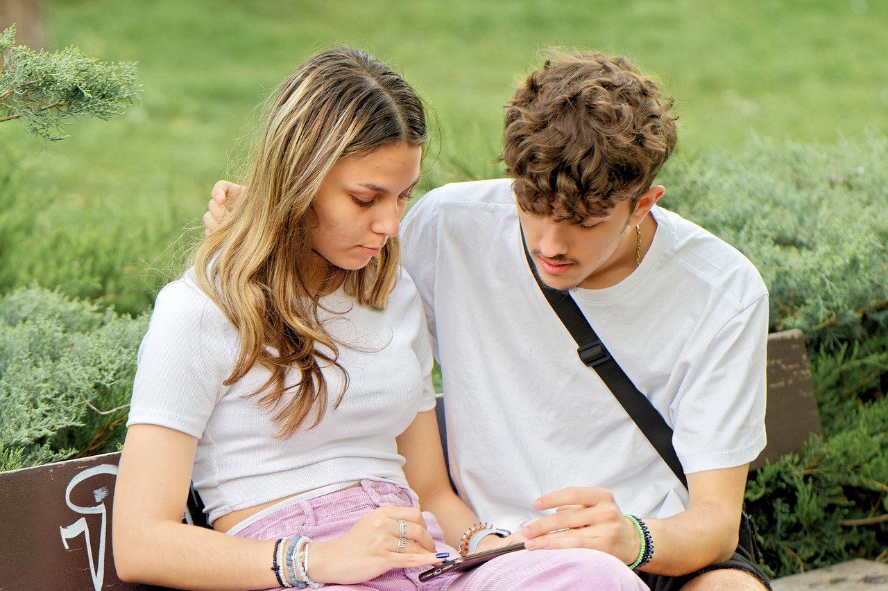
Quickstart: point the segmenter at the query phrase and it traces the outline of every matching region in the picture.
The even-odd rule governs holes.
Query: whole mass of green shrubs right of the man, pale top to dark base
[[[876,134],[836,146],[754,139],[662,174],[665,207],[756,264],[772,329],[805,333],[824,437],[750,475],[746,495],[777,575],[888,547],[888,523],[873,519],[888,513],[886,160]]]

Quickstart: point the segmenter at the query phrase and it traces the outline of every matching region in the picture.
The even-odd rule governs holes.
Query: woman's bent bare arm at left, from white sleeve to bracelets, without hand
[[[196,447],[194,437],[174,429],[131,426],[115,485],[117,575],[184,589],[276,587],[274,540],[182,523]]]

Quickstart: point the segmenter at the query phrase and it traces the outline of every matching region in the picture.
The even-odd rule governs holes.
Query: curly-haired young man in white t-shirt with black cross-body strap
[[[480,516],[528,548],[649,558],[652,589],[761,589],[737,532],[765,446],[767,292],[738,251],[656,206],[669,111],[625,59],[554,53],[507,107],[510,178],[427,193],[403,265],[442,367],[451,474]],[[577,358],[522,233],[673,429],[687,489]]]

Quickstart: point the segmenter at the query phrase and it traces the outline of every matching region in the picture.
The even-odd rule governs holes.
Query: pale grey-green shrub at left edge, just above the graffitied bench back
[[[0,469],[116,449],[146,328],[43,288],[0,298]]]

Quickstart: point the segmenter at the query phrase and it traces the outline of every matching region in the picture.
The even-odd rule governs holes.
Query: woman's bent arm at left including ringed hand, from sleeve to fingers
[[[118,576],[182,589],[278,587],[271,570],[275,540],[248,540],[183,524],[197,440],[174,429],[137,424],[123,445],[114,502]],[[398,520],[408,523],[407,552],[398,553]],[[309,576],[358,583],[392,568],[440,563],[423,518],[387,506],[362,516],[337,540],[312,542]]]

